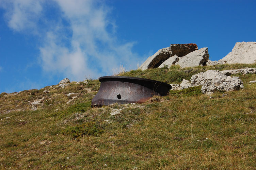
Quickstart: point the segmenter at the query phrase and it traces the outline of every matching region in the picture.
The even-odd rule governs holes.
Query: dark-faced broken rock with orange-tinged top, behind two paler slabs
[[[160,49],[154,55],[148,57],[139,68],[142,70],[158,68],[164,61],[174,55],[182,57],[197,49],[196,44],[171,44],[170,47]]]

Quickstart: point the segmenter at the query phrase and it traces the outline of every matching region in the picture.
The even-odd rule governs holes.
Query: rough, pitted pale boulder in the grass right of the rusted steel
[[[239,77],[230,77],[218,70],[207,70],[191,77],[191,84],[202,86],[203,94],[212,94],[216,90],[231,91],[243,88]]]

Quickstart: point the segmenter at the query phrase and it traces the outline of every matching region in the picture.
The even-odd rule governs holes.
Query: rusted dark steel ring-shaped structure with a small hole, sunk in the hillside
[[[105,76],[99,81],[100,88],[92,100],[93,106],[143,103],[154,95],[169,95],[172,88],[167,83],[126,76]]]

